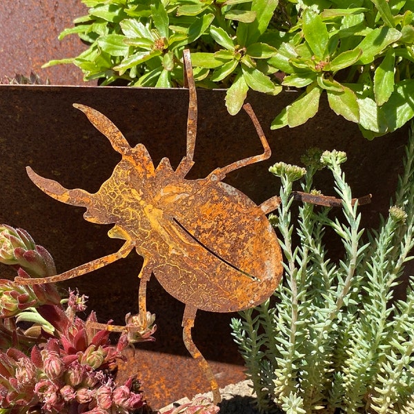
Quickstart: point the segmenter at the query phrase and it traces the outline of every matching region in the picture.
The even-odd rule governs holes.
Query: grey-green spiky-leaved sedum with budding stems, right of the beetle
[[[262,413],[273,404],[288,414],[414,413],[413,277],[406,300],[393,300],[393,287],[413,258],[414,132],[393,206],[378,231],[360,227],[341,169],[345,160],[344,152],[314,150],[303,159],[306,169],[270,168],[282,180],[273,221],[285,280],[275,297],[232,321]],[[332,172],[342,212],[305,204],[294,222],[293,181],[302,176],[309,192],[322,167]],[[341,259],[328,255],[335,234]]]

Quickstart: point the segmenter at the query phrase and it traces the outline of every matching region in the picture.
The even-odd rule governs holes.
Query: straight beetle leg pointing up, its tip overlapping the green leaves
[[[183,52],[184,61],[184,86],[188,87],[190,101],[188,103],[188,117],[187,117],[187,153],[186,157],[181,159],[177,167],[177,174],[180,177],[185,177],[190,168],[194,165],[194,149],[195,137],[197,135],[197,92],[195,90],[195,81],[193,75],[193,66],[191,64],[190,50],[186,49]]]

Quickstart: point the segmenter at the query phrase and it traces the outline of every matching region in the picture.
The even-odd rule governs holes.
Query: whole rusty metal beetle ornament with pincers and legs
[[[272,295],[282,276],[282,253],[266,214],[277,208],[279,198],[257,206],[244,193],[221,181],[229,172],[270,157],[270,147],[249,104],[244,110],[253,121],[264,152],[217,168],[206,178],[186,179],[194,164],[197,130],[197,95],[188,50],[184,51],[184,67],[190,95],[187,144],[186,156],[176,170],[167,158],[155,168],[143,144],[131,148],[108,118],[88,106],[74,104],[122,155],[111,177],[97,193],[90,194],[79,188],[67,190],[57,181],[40,177],[30,167],[28,175],[51,197],[85,207],[86,220],[115,224],[108,236],[125,243],[116,253],[60,275],[17,277],[15,281],[41,284],[70,279],[126,257],[135,248],[144,257],[139,273],[139,315],[132,324],[105,325],[106,328],[127,332],[131,339],[134,331],[146,328],[146,284],[155,275],[170,295],[185,304],[184,344],[206,375],[217,404],[221,400],[217,381],[193,342],[191,328],[197,309],[241,311]]]

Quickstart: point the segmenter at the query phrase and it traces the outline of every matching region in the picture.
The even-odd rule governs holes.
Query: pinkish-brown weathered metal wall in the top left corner
[[[86,49],[77,36],[62,41],[57,37],[87,11],[79,0],[0,1],[0,79],[17,73],[29,76],[34,71],[54,85],[84,84],[81,70],[73,65],[41,66],[51,59],[77,56]]]

